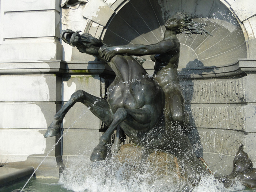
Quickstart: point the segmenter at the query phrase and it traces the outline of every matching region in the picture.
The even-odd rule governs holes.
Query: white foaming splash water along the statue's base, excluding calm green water
[[[187,180],[175,179],[175,174],[155,174],[148,163],[137,165],[140,171],[134,171],[127,163],[115,161],[114,157],[93,163],[85,161],[85,158],[72,162],[61,175],[59,184],[74,192],[231,192],[245,188],[236,182],[226,189],[213,176],[202,177],[196,187],[192,187]]]

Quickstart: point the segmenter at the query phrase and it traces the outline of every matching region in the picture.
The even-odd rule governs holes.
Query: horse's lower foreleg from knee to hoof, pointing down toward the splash
[[[99,144],[94,148],[93,153],[91,154],[91,162],[100,161],[106,158],[108,151],[106,144],[110,141],[114,129],[117,127],[117,125],[122,123],[126,117],[127,111],[124,108],[117,109],[116,113],[114,113],[112,123],[110,124],[107,131],[99,138]]]

